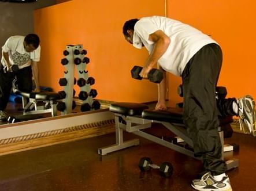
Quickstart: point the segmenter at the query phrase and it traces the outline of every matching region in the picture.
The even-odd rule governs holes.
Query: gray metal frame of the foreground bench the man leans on
[[[116,144],[103,147],[103,148],[98,148],[99,155],[106,155],[110,152],[122,150],[124,148],[138,146],[140,143],[139,139],[132,139],[124,142],[123,132],[127,131],[130,133],[134,133],[135,135],[144,137],[145,139],[151,140],[152,142],[161,144],[162,146],[171,148],[172,150],[175,150],[177,152],[181,152],[182,154],[191,156],[192,158],[202,160],[202,158],[196,158],[194,156],[194,151],[188,148],[181,147],[173,142],[169,142],[165,140],[164,137],[159,138],[157,136],[150,135],[149,133],[142,131],[143,129],[150,128],[152,123],[162,124],[164,125],[165,128],[169,129],[169,131],[175,133],[175,135],[183,139],[184,142],[187,143],[190,147],[193,147],[192,140],[190,139],[190,137],[188,137],[187,131],[184,128],[183,124],[175,124],[175,123],[168,123],[165,121],[143,119],[141,116],[125,116],[119,113],[115,113],[115,123],[116,123]],[[224,132],[221,131],[220,127],[218,128],[218,131],[220,134],[220,139],[222,144],[222,159],[224,160]],[[225,161],[225,162],[227,163],[228,170],[239,166],[238,159],[229,159],[228,161]]]

